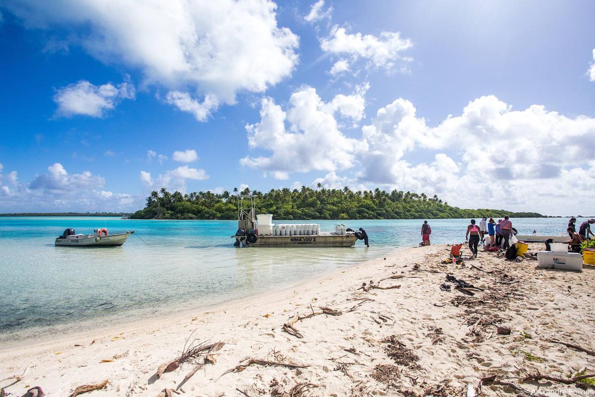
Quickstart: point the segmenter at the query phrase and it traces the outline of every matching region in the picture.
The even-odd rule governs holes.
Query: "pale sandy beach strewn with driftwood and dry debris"
[[[584,367],[595,373],[595,355],[548,341],[595,350],[595,268],[541,270],[534,261],[505,261],[487,252],[464,264],[444,264],[449,249],[403,249],[213,310],[4,349],[0,379],[26,370],[5,388],[12,396],[33,386],[48,396],[68,396],[77,386],[107,379],[88,395],[155,397],[179,387],[193,369],[184,364],[155,376],[190,337],[225,345],[209,356],[214,364],[177,389],[187,396],[464,396],[468,385],[478,393],[480,379],[491,375],[496,381],[485,382],[485,396],[536,390],[595,395],[590,385],[524,379],[537,373],[567,379]],[[481,290],[471,289],[472,296],[444,292],[447,273]],[[317,314],[321,307],[325,313]],[[294,335],[283,329],[292,318],[293,329],[286,330]],[[510,327],[511,334],[499,335],[498,326]],[[250,358],[278,365],[246,365]],[[204,354],[196,362],[203,360]],[[231,368],[236,371],[226,373]]]

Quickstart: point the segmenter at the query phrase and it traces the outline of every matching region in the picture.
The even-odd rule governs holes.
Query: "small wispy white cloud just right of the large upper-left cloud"
[[[361,33],[350,34],[344,27],[339,26],[334,26],[328,37],[320,39],[322,51],[350,56],[353,60],[364,58],[369,65],[387,70],[392,70],[399,61],[411,61],[412,58],[404,56],[403,52],[412,46],[413,42],[401,37],[400,32],[381,32],[380,36],[376,37]]]

